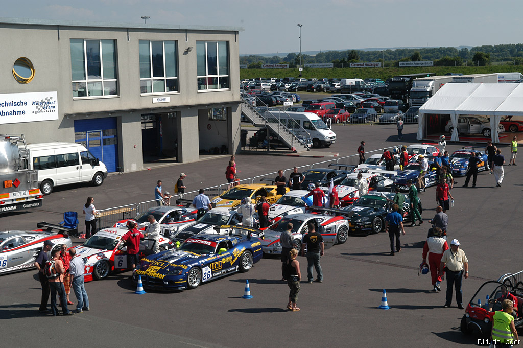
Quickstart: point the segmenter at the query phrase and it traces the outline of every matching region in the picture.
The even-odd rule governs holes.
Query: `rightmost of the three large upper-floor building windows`
[[[196,41],[198,90],[230,89],[228,45],[228,41]]]

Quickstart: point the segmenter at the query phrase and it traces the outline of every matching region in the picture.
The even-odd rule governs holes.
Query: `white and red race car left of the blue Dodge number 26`
[[[93,234],[82,245],[75,246],[76,255],[81,256],[85,263],[84,280],[99,280],[106,278],[113,271],[124,271],[129,269],[127,264],[127,248],[122,243],[122,235],[126,234],[127,228],[110,227]],[[160,250],[173,248],[173,243],[167,238],[160,237]],[[140,259],[146,255],[153,254],[154,239],[140,240]]]

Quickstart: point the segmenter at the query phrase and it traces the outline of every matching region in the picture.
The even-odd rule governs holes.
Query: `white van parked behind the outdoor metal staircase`
[[[288,113],[270,111],[270,114],[276,119],[279,119],[283,124],[287,122],[287,128],[294,133],[303,137],[310,137],[314,148],[319,148],[321,145],[328,148],[336,142],[336,133],[331,129],[332,125],[331,127],[327,126],[325,122],[315,114],[294,113],[290,111]]]

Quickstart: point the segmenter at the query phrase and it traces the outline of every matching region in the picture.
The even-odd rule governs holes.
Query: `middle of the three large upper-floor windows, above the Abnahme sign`
[[[140,40],[140,93],[178,92],[176,41]]]

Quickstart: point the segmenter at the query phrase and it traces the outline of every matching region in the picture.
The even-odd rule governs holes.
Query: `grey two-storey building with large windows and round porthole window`
[[[242,30],[0,18],[0,133],[82,143],[109,172],[236,153]]]

